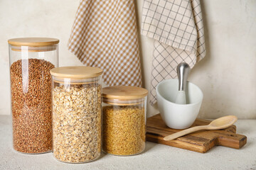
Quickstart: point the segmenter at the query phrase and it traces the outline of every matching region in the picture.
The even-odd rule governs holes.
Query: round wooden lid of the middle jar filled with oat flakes
[[[54,77],[71,79],[88,79],[99,77],[102,72],[102,69],[97,67],[85,66],[57,67],[50,70],[50,74]]]

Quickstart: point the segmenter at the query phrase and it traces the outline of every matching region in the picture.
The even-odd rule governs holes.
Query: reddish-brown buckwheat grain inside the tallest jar
[[[52,98],[46,60],[18,60],[11,64],[11,108],[14,149],[24,153],[52,149]]]

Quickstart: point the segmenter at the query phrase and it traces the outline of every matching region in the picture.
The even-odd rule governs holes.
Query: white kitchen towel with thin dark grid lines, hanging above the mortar
[[[153,105],[156,85],[176,78],[180,62],[192,68],[206,55],[200,1],[144,0],[142,35],[155,40],[149,96]]]

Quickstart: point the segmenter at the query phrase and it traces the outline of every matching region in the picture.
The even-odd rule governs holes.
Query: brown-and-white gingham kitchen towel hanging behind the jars
[[[142,86],[133,0],[81,0],[68,49],[109,86]]]

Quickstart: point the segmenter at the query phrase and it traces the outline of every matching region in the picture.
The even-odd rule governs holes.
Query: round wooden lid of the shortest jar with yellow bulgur
[[[102,89],[102,97],[119,100],[144,98],[148,94],[146,89],[136,86],[109,86]]]

